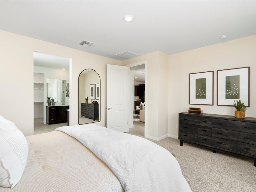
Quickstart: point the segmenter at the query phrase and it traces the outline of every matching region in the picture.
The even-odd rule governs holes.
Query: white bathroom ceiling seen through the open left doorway
[[[34,52],[34,66],[69,70],[69,58]]]

